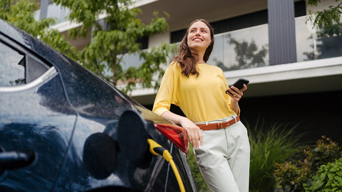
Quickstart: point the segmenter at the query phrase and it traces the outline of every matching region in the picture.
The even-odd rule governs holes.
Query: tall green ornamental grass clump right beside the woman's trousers
[[[247,129],[250,142],[249,190],[253,192],[273,192],[276,186],[276,162],[285,162],[299,152],[298,140],[302,135],[294,135],[295,125],[288,130],[288,125],[275,123],[266,126],[259,120],[254,128]]]

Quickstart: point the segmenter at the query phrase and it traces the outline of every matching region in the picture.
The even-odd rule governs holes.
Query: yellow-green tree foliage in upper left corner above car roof
[[[1,19],[77,60],[77,48],[71,46],[60,32],[49,28],[55,23],[53,18],[34,19],[34,12],[39,8],[35,0],[1,0],[0,7]]]

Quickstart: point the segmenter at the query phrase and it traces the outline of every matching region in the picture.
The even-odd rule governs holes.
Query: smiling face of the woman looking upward
[[[195,22],[189,28],[187,41],[192,52],[206,51],[211,42],[209,27],[201,21]]]

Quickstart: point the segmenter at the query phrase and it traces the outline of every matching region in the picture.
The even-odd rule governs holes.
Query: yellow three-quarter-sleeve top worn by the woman
[[[188,78],[182,74],[181,67],[172,62],[161,80],[152,111],[161,115],[174,104],[194,123],[234,115],[229,107],[231,97],[225,93],[228,84],[223,71],[205,63],[198,63],[197,67],[199,76]]]

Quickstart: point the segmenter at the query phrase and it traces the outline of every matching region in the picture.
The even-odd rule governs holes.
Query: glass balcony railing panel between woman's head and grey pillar
[[[215,35],[207,63],[223,71],[268,66],[268,24]]]

